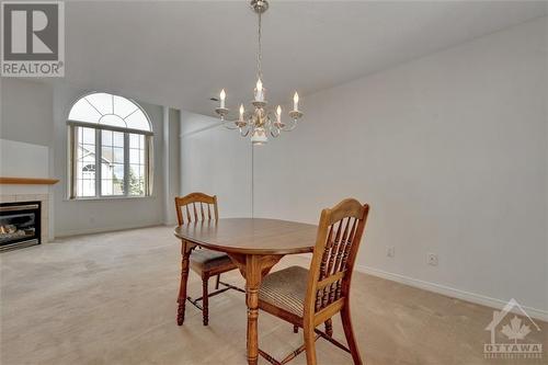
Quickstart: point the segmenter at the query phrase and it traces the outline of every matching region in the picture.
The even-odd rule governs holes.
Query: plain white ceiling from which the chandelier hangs
[[[540,1],[271,1],[263,73],[292,100],[547,14]],[[247,1],[67,1],[66,78],[90,90],[214,114],[255,82],[256,16]]]

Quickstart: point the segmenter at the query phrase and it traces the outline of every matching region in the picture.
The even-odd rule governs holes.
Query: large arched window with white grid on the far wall
[[[70,109],[70,198],[151,194],[152,128],[123,96],[96,92]]]

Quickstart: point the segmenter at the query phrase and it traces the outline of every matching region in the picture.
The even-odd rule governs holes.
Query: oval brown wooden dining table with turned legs
[[[256,320],[261,280],[286,254],[312,252],[318,227],[287,220],[261,218],[227,218],[198,221],[175,228],[182,240],[181,297],[186,298],[189,258],[199,246],[226,252],[246,278],[248,306],[248,363],[255,365],[259,356]],[[181,300],[184,316],[186,300]]]

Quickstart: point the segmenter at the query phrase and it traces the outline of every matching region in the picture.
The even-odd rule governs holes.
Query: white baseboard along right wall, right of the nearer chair
[[[502,299],[496,299],[496,298],[491,298],[487,297],[484,295],[476,294],[476,293],[470,293],[470,292],[465,292],[460,289],[456,289],[453,287],[448,287],[445,285],[441,284],[435,284],[435,283],[430,283],[430,282],[424,282],[418,278],[400,275],[400,274],[395,274],[395,273],[389,273],[379,269],[366,266],[366,265],[358,265],[356,264],[355,266],[357,272],[369,274],[373,276],[386,278],[392,282],[401,283],[404,285],[413,286],[420,289],[442,294],[452,298],[458,298],[463,299],[466,301],[479,304],[482,306],[491,307],[491,308],[496,308],[496,309],[502,309],[506,304],[507,300],[502,300]],[[532,308],[532,307],[526,307],[522,306],[527,313],[535,319],[539,319],[541,321],[548,321],[548,311],[537,309],[537,308]],[[516,313],[521,313],[516,311]]]

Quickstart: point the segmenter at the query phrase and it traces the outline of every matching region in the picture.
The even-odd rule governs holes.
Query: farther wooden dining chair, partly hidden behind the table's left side
[[[217,208],[217,196],[209,196],[204,193],[191,193],[185,196],[175,197],[176,218],[179,226],[198,224],[205,220],[218,220],[219,213]],[[184,246],[183,248],[184,249]],[[182,254],[184,252],[181,252]],[[190,296],[184,298],[183,285],[189,275],[189,266],[202,277],[202,296],[193,299]],[[181,285],[179,287],[179,308],[176,322],[182,326],[184,322],[184,303],[189,300],[196,308],[202,310],[203,323],[207,326],[209,322],[209,297],[218,295],[228,289],[236,289],[238,292],[244,290],[224,283],[220,281],[220,274],[235,270],[237,266],[232,263],[230,258],[225,252],[217,252],[207,249],[194,249],[191,253],[189,265],[182,263]],[[215,283],[215,292],[208,293],[209,277],[217,276]],[[219,289],[219,285],[224,288]],[[202,301],[202,305],[199,303]]]

